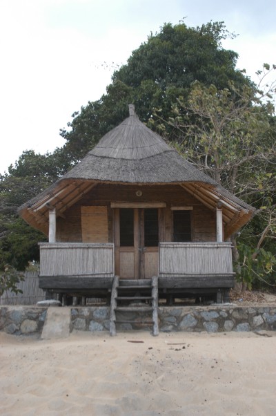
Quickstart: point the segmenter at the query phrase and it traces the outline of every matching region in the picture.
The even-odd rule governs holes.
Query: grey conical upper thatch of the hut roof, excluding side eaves
[[[205,182],[209,176],[184,160],[130,106],[130,116],[101,138],[66,179],[88,179],[135,184]]]

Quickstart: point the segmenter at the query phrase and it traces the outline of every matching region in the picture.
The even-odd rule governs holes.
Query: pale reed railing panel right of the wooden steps
[[[229,273],[231,243],[160,243],[159,276]]]

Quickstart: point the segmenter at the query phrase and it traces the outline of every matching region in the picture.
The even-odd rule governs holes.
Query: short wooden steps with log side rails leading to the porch
[[[121,319],[118,316],[120,313],[125,315]],[[127,316],[128,313],[132,313],[132,316],[133,313],[137,313],[139,317],[131,320]],[[147,319],[150,316],[151,319]],[[120,280],[119,276],[115,276],[110,303],[110,335],[115,336],[116,325],[123,323],[152,325],[152,335],[158,335],[158,278],[156,276],[143,280]]]

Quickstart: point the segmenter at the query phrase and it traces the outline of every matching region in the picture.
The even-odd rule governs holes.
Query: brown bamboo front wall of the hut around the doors
[[[137,190],[142,195],[137,196]],[[179,185],[97,185],[88,192],[81,200],[68,209],[65,218],[57,219],[57,241],[60,242],[114,242],[113,238],[113,210],[110,202],[164,202],[164,216],[161,220],[161,241],[172,240],[172,211],[171,207],[193,207],[192,211],[192,234],[193,241],[215,241],[216,219],[215,212],[206,208],[195,197],[185,191]],[[93,217],[93,208],[99,206],[101,213]],[[90,225],[88,225],[88,214],[90,212]],[[104,213],[104,214],[103,214]],[[84,219],[86,216],[86,220]],[[94,219],[93,219],[94,218]],[[90,227],[90,231],[88,230]],[[92,228],[91,228],[92,227]],[[94,227],[94,229],[93,229]],[[87,229],[88,232],[83,230]],[[92,235],[95,235],[95,238]]]

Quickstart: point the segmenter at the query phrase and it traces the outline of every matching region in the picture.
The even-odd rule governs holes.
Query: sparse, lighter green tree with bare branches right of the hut
[[[270,70],[267,64],[264,70]],[[254,276],[276,278],[275,245],[262,247],[267,238],[276,239],[276,129],[271,101],[275,91],[275,84],[262,91],[259,86],[230,82],[219,90],[195,82],[188,100],[179,97],[169,120],[176,131],[175,146],[185,158],[262,210],[255,238],[251,234],[250,243],[239,241],[240,261],[234,250],[237,271],[249,285]],[[236,236],[232,240],[236,247]]]

